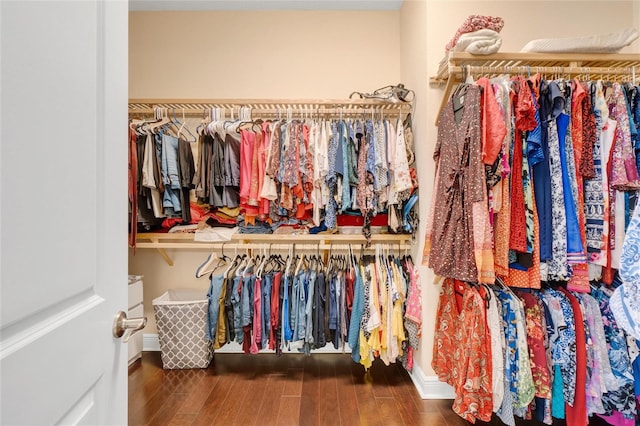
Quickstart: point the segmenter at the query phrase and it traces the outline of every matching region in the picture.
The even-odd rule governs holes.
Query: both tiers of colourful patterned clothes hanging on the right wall
[[[423,264],[444,277],[432,366],[467,421],[638,421],[637,342],[611,311],[622,311],[616,269],[637,203],[636,89],[479,79],[442,110]],[[470,110],[479,124],[458,139]],[[479,285],[486,247],[496,279]]]

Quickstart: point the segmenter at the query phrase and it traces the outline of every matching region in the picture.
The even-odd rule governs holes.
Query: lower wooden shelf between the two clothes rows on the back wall
[[[204,242],[194,241],[193,233],[139,233],[136,237],[136,248],[156,249],[162,258],[173,265],[173,260],[165,249],[202,249],[202,250],[288,250],[292,245],[303,251],[345,250],[349,246],[354,249],[364,248],[366,239],[360,234],[234,234],[230,241]],[[383,244],[397,247],[398,250],[411,248],[411,235],[408,234],[373,234],[371,246]]]

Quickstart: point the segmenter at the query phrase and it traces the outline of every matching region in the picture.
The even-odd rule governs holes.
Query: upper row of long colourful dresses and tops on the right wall
[[[423,264],[469,282],[497,274],[514,287],[611,283],[639,174],[627,93],[635,87],[540,76],[461,84],[438,121]],[[469,110],[475,130],[462,142]]]

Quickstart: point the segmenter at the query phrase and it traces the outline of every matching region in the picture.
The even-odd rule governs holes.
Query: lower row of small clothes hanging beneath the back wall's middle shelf
[[[332,255],[327,264],[316,255],[223,262],[210,275],[207,339],[215,349],[237,342],[250,354],[348,345],[365,368],[379,357],[411,371],[421,338],[420,279],[411,258],[376,249],[360,259]]]

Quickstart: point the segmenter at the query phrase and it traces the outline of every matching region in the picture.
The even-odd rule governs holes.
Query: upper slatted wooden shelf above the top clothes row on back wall
[[[380,111],[385,114],[409,112],[411,104],[380,99],[129,99],[129,114],[152,114],[155,108],[168,108],[188,115],[202,116],[211,108],[238,111],[251,108],[256,115],[297,116],[308,114],[353,114]]]

